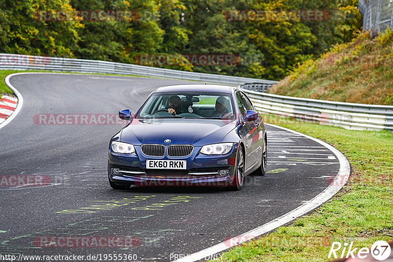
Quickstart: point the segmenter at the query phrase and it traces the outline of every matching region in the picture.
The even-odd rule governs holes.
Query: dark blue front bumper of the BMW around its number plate
[[[165,145],[167,147],[167,145]],[[109,152],[108,176],[114,183],[132,183],[145,186],[228,186],[235,177],[236,153],[239,143],[235,143],[227,155],[208,156],[200,154],[201,147],[194,147],[188,157],[146,157],[135,147],[133,154]],[[146,169],[146,160],[186,160],[186,170]],[[113,172],[114,168],[118,169]],[[226,170],[226,174],[219,173]]]

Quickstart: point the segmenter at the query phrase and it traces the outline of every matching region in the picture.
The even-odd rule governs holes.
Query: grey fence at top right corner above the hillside
[[[392,0],[359,0],[359,10],[363,15],[363,29],[371,30],[371,35],[393,28]]]

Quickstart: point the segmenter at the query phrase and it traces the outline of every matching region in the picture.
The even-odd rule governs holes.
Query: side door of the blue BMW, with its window
[[[258,156],[258,139],[259,133],[257,131],[257,121],[246,122],[244,116],[247,110],[253,110],[253,106],[248,101],[247,97],[240,91],[236,92],[236,101],[239,107],[240,118],[243,122],[241,135],[245,143],[246,148],[246,167],[247,172],[257,162]]]

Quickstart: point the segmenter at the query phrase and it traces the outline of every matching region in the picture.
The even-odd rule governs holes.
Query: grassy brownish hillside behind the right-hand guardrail
[[[393,30],[359,33],[307,60],[269,93],[349,103],[393,105]]]

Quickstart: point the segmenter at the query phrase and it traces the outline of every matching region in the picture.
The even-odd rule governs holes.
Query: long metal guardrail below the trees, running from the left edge
[[[0,53],[0,69],[3,70],[50,70],[85,74],[116,74],[169,79],[197,80],[205,82],[239,85],[247,82],[260,82],[273,85],[277,81],[186,72],[149,66],[124,64],[108,61],[59,58],[21,54]]]

